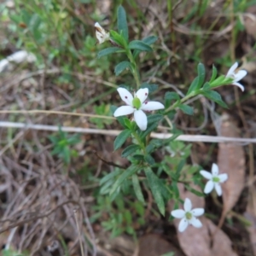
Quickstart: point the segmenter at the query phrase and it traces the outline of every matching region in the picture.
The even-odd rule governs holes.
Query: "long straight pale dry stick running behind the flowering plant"
[[[15,122],[1,122],[0,127],[7,128],[21,128],[21,129],[33,129],[41,131],[59,131],[59,127],[55,125],[34,125]],[[103,129],[91,129],[80,127],[62,126],[61,131],[66,132],[78,132],[88,134],[102,134],[107,136],[116,137],[121,131],[118,130],[103,130]],[[173,136],[172,133],[156,133],[150,134],[153,138],[168,139]],[[206,136],[206,135],[180,135],[175,140],[183,142],[202,142],[202,143],[256,143],[256,138],[242,138],[242,137],[221,137],[221,136]]]

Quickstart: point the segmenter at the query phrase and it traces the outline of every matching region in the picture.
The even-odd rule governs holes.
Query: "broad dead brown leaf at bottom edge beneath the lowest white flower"
[[[182,185],[179,186],[179,189],[183,199],[189,198],[192,201],[193,208],[205,206],[204,198],[185,191]],[[217,226],[211,220],[204,216],[199,218],[203,224],[201,229],[189,226],[183,233],[177,231],[177,238],[183,252],[187,256],[237,256],[232,250],[230,238],[222,230],[218,230]],[[176,228],[178,227],[179,221],[179,219],[174,220]],[[213,236],[212,241],[214,232],[216,232],[216,235]]]

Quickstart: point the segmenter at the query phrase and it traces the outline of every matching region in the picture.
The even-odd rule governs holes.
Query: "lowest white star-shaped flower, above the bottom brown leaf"
[[[204,212],[204,208],[192,209],[191,201],[189,200],[189,198],[186,198],[184,201],[184,210],[173,210],[171,214],[174,218],[181,218],[181,221],[178,224],[178,230],[180,232],[183,232],[187,229],[189,224],[193,225],[195,228],[201,228],[201,221],[196,217],[201,216],[202,214],[204,214]]]

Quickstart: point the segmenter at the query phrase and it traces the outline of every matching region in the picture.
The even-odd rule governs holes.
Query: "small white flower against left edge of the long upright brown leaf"
[[[204,189],[204,192],[208,194],[214,188],[218,195],[222,195],[220,183],[224,183],[228,179],[228,174],[218,174],[218,166],[214,163],[212,164],[212,174],[207,171],[200,171],[200,173],[203,177],[209,179]]]

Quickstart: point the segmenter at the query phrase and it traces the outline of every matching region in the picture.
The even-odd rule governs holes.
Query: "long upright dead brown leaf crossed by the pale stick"
[[[228,114],[223,114],[220,127],[221,136],[240,137],[238,129]],[[235,143],[218,144],[218,168],[220,173],[227,173],[228,180],[222,184],[225,216],[236,204],[244,188],[245,154],[243,148]]]

